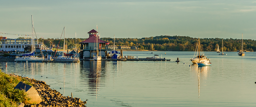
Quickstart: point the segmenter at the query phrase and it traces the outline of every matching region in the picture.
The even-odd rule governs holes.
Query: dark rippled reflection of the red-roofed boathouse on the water
[[[80,63],[80,78],[84,86],[88,85],[88,91],[91,96],[99,96],[98,91],[101,84],[101,80],[105,78],[105,61],[83,61]]]

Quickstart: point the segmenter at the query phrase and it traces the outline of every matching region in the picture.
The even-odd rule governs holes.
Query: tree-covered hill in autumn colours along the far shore
[[[77,38],[77,48],[80,48],[81,41],[87,38]],[[114,38],[100,38],[101,40],[110,42],[109,45],[113,45]],[[75,47],[75,38],[67,38],[67,47],[72,49]],[[54,38],[42,39],[39,41],[44,42],[48,47],[52,46],[52,43],[58,46],[59,40]],[[50,44],[51,41],[52,43]],[[198,38],[191,38],[188,36],[156,36],[149,38],[115,38],[115,45],[129,45],[138,46],[141,49],[158,50],[158,51],[195,51]],[[63,39],[60,40],[59,45],[63,47]],[[217,51],[219,45],[222,50],[221,38],[200,38],[200,42],[204,51]],[[223,51],[237,51],[241,50],[241,39],[223,39]],[[251,39],[243,40],[243,50],[256,51],[256,41]]]

